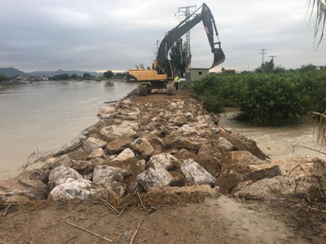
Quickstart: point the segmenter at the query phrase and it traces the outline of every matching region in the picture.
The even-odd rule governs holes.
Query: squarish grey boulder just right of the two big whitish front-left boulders
[[[123,180],[122,170],[120,168],[101,165],[94,169],[93,182],[95,184],[105,184],[107,182],[121,182]]]

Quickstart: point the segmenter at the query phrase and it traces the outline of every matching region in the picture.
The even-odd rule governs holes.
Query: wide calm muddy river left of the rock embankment
[[[0,179],[15,176],[37,148],[61,148],[98,121],[104,102],[125,97],[134,84],[40,81],[0,88]]]

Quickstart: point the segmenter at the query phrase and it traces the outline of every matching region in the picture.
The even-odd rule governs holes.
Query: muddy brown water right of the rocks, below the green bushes
[[[237,109],[225,108],[225,112],[221,113],[222,119],[219,125],[232,128],[234,133],[240,133],[255,140],[271,160],[314,156],[326,161],[326,155],[304,148],[309,147],[326,153],[324,147],[320,148],[320,145],[316,142],[314,137],[316,124],[309,118],[303,118],[295,124],[282,127],[258,127],[232,119],[238,113],[239,110]],[[294,145],[304,147],[295,147],[293,154],[291,149]]]

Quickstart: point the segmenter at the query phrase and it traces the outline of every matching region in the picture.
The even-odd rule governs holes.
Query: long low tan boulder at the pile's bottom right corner
[[[310,186],[307,182],[304,185],[302,181],[296,184],[295,181],[289,181],[284,176],[276,176],[243,187],[235,195],[238,197],[283,198],[284,195],[308,194],[307,189]]]

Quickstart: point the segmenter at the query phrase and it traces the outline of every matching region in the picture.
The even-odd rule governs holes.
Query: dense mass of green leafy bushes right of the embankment
[[[326,108],[326,72],[216,74],[196,82],[193,90],[209,111],[238,107],[261,126],[280,126]]]

